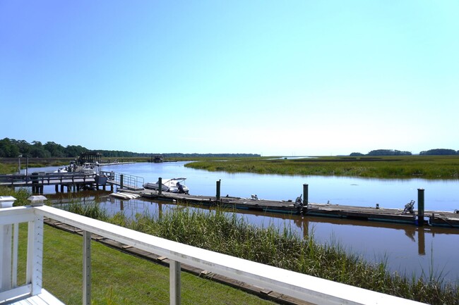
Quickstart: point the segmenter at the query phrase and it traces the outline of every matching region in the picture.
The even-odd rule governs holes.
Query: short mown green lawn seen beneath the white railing
[[[97,242],[91,247],[93,304],[169,304],[169,268]],[[81,304],[82,255],[81,236],[44,226],[43,287],[68,305]],[[181,273],[181,283],[182,304],[273,304],[189,273]]]

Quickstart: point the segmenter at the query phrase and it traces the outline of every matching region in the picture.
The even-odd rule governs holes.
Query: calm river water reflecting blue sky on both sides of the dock
[[[46,168],[54,170],[56,168]],[[190,194],[215,195],[215,183],[221,180],[221,194],[238,197],[287,200],[302,194],[302,185],[309,185],[309,201],[315,203],[354,206],[403,208],[410,200],[417,201],[417,189],[425,189],[426,209],[453,211],[459,209],[459,181],[432,181],[422,179],[379,180],[364,178],[336,178],[320,176],[256,175],[248,173],[211,173],[193,170],[177,163],[136,163],[104,166],[102,170],[137,175],[145,182],[156,182],[158,177],[186,177]],[[45,188],[54,193],[54,187]],[[150,211],[157,213],[174,208],[171,204],[157,204],[144,200],[120,201],[106,197],[105,206],[111,211],[121,208],[126,213]],[[448,228],[417,228],[414,225],[370,223],[356,220],[335,220],[287,216],[270,213],[241,213],[257,225],[287,225],[300,236],[314,235],[322,243],[338,243],[347,251],[363,256],[368,261],[387,261],[390,270],[399,273],[441,275],[450,281],[459,281],[459,230]],[[433,269],[433,271],[431,271]]]

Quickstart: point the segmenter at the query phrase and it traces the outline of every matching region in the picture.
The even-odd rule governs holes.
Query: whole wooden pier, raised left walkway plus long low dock
[[[418,189],[417,209],[414,201],[410,208],[380,208],[379,206],[343,206],[338,204],[311,203],[308,199],[308,185],[303,185],[303,199],[267,200],[254,198],[220,196],[220,181],[217,181],[215,196],[177,194],[144,189],[143,178],[135,175],[99,171],[94,173],[32,173],[30,175],[0,175],[0,185],[7,187],[32,187],[32,193],[42,194],[45,185],[54,185],[56,192],[78,192],[81,189],[102,189],[107,187],[113,192],[114,186],[121,192],[131,192],[141,197],[176,201],[197,206],[220,206],[223,208],[251,210],[273,213],[300,214],[328,218],[348,218],[388,223],[415,225],[434,225],[447,228],[459,228],[459,211],[434,211],[424,209],[424,189]]]

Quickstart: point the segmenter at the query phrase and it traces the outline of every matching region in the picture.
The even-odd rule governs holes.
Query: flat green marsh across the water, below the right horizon
[[[276,160],[198,161],[209,171],[278,175],[337,175],[366,178],[459,179],[459,156],[318,157]]]

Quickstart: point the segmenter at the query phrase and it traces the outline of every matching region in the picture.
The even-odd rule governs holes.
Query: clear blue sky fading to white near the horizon
[[[0,1],[0,139],[459,149],[459,1]]]

